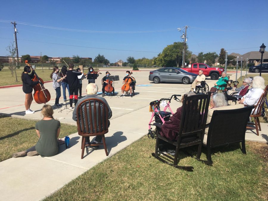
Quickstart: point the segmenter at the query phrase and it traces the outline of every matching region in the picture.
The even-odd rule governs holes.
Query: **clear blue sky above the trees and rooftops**
[[[3,20],[20,22],[16,26],[19,32],[17,35],[19,56],[23,54],[38,56],[42,52],[49,57],[79,55],[94,59],[100,53],[111,63],[117,59],[125,61],[128,56],[133,56],[135,59],[152,58],[162,52],[167,45],[181,41],[182,34],[177,28],[185,25],[190,27],[187,30],[187,43],[193,54],[213,51],[219,54],[221,48],[228,50],[229,54],[232,52],[244,54],[258,51],[262,43],[266,46],[268,44],[267,0],[27,0],[3,1],[1,8],[0,55],[2,56],[8,54],[6,47],[13,43],[14,32],[12,25]],[[48,29],[43,26],[68,30]],[[69,29],[86,30],[86,32]]]

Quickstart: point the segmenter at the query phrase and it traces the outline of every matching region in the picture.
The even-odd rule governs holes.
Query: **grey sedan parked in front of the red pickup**
[[[190,84],[196,79],[197,75],[188,73],[181,68],[160,68],[155,71],[150,71],[149,80],[155,84],[160,82],[182,82],[183,84]]]

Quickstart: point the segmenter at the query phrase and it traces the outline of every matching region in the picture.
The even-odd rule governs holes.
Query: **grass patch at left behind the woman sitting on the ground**
[[[0,116],[0,161],[12,157],[15,152],[24,151],[36,144],[38,136],[35,123],[26,119]],[[14,126],[15,125],[15,126]],[[77,132],[76,126],[61,124],[60,138]]]

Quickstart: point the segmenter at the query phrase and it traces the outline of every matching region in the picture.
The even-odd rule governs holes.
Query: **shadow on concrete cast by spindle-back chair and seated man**
[[[123,132],[122,131],[117,131],[115,132],[112,136],[110,137],[105,137],[105,142],[106,142],[106,147],[107,147],[107,152],[108,152],[108,155],[110,154],[110,151],[113,147],[116,147],[119,143],[123,142],[123,141],[126,141],[127,140],[127,137],[126,136],[122,136],[123,135]],[[95,138],[93,138],[91,140],[91,143],[94,141]],[[101,145],[99,149],[104,149],[104,146]],[[91,148],[86,148],[85,149],[86,151],[86,155],[84,157],[86,157],[87,155],[89,155],[93,149],[91,150]]]

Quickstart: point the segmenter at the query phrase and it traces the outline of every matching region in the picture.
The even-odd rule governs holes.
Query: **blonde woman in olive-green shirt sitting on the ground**
[[[59,145],[63,144],[62,140],[58,140],[60,134],[60,121],[53,118],[53,109],[51,105],[44,105],[42,108],[41,121],[36,122],[35,130],[38,135],[38,142],[35,146],[26,151],[17,152],[12,155],[13,158],[25,156],[54,156],[59,152]]]

